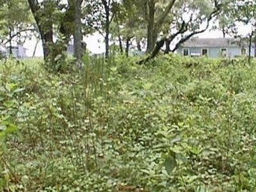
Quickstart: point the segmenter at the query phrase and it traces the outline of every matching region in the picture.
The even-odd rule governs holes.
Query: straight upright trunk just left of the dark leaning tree
[[[155,22],[155,1],[149,0],[148,2],[148,26],[147,26],[147,51],[151,52],[154,49],[154,22]]]

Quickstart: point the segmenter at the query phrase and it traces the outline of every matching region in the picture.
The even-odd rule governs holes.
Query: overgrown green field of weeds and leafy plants
[[[256,63],[132,60],[1,63],[0,191],[256,191]]]

